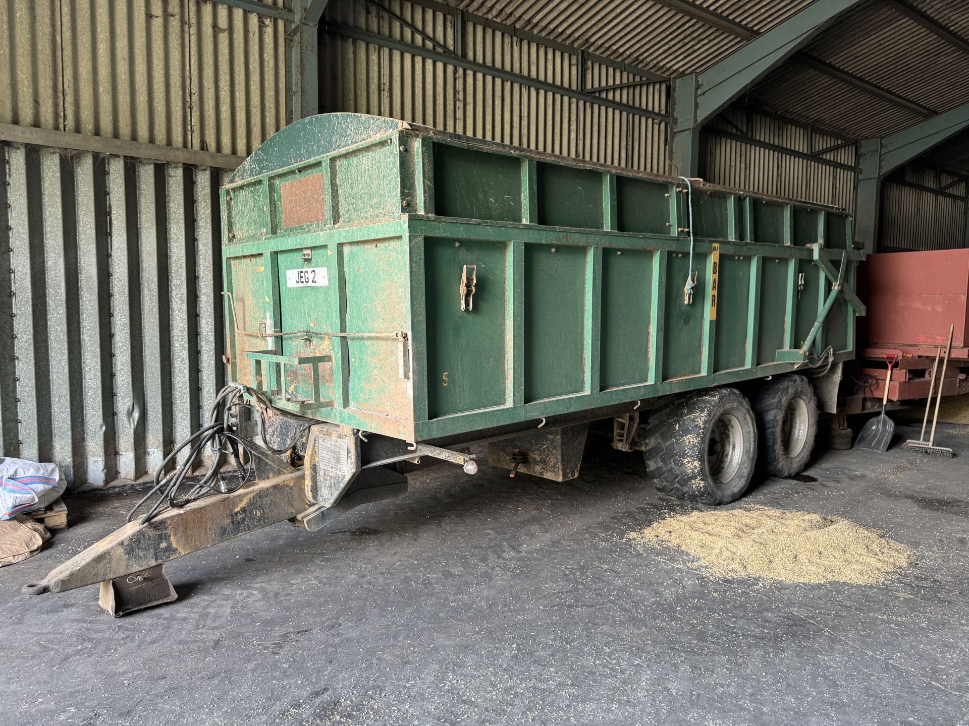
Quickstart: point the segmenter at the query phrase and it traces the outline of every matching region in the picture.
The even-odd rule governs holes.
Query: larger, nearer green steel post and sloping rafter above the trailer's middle
[[[696,176],[703,124],[825,30],[838,16],[862,2],[865,0],[815,0],[705,71],[675,78],[672,82],[673,171]]]

